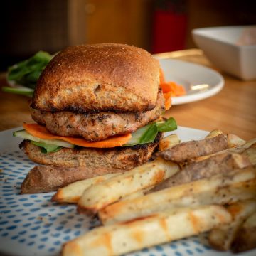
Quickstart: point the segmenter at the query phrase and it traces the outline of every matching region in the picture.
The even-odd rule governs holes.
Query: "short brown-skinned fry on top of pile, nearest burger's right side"
[[[219,134],[211,138],[182,142],[172,146],[171,149],[159,152],[159,156],[168,161],[183,163],[189,159],[206,156],[224,149],[228,149],[228,142],[224,134]]]

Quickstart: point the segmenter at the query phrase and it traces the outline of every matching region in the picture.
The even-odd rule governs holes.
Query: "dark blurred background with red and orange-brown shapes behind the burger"
[[[193,28],[256,24],[255,1],[1,1],[0,70],[38,50],[128,43],[151,53],[195,48]]]

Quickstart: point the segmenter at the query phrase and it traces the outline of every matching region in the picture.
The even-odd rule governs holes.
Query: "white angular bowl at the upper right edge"
[[[220,70],[242,80],[256,78],[256,26],[197,28],[192,36]]]

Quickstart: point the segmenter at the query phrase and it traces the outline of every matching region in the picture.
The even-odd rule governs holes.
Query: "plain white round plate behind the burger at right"
[[[203,65],[171,58],[159,59],[166,81],[183,85],[186,95],[172,98],[172,105],[203,100],[220,92],[224,85],[220,73]],[[196,90],[192,89],[197,88]]]

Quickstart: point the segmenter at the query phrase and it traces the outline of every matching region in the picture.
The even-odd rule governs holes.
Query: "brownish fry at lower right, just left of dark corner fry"
[[[216,250],[230,250],[230,247],[244,220],[256,211],[255,199],[241,201],[228,206],[233,216],[232,223],[213,228],[208,235],[209,244]]]

